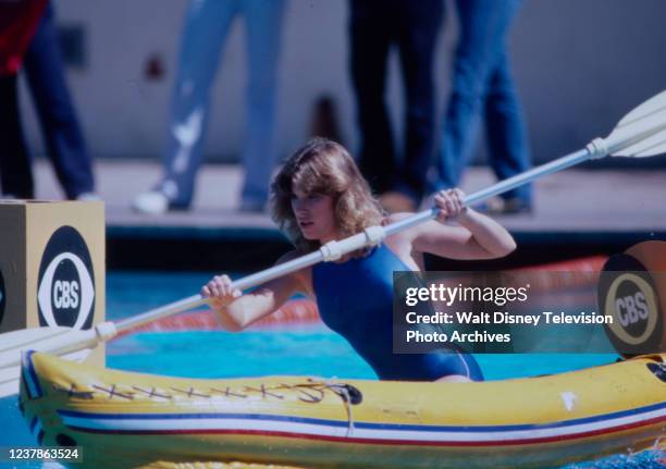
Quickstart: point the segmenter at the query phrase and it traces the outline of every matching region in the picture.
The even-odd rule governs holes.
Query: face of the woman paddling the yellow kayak
[[[294,188],[292,210],[300,233],[306,239],[317,239],[321,243],[335,239],[333,197],[318,194],[307,195],[298,188]]]

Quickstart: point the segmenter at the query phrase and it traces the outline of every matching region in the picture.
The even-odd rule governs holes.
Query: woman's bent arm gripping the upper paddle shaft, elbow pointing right
[[[437,222],[418,226],[412,234],[412,248],[421,252],[451,259],[494,259],[516,249],[511,235],[491,218],[462,205],[459,189],[439,193],[434,205],[441,213]],[[446,219],[455,218],[460,226],[447,226]]]

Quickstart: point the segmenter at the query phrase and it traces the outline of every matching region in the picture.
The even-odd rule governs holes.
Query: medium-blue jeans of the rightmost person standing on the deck
[[[499,180],[527,171],[530,155],[506,35],[520,0],[456,0],[460,37],[452,91],[441,131],[435,189],[456,187],[474,151],[480,116],[493,171]],[[503,195],[531,201],[531,186]]]

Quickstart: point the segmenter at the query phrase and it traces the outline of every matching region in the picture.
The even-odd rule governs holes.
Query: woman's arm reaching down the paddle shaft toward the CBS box
[[[278,263],[293,257],[283,256]],[[276,311],[296,292],[303,292],[297,273],[284,275],[258,286],[251,293],[242,295],[232,291],[227,275],[214,276],[201,288],[201,295],[212,298],[210,307],[215,312],[222,328],[238,332]]]

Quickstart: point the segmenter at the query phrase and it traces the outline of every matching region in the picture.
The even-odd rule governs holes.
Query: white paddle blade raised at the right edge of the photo
[[[625,115],[605,140],[614,157],[644,158],[665,153],[666,91]]]

